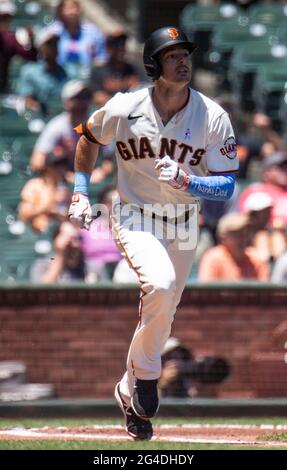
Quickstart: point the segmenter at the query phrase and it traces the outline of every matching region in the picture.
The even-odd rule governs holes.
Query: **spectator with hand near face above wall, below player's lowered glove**
[[[54,256],[34,262],[30,273],[31,281],[83,281],[86,268],[79,229],[69,221],[62,222],[53,238]]]

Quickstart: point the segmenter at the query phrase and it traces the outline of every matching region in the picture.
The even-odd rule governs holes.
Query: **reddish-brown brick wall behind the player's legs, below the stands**
[[[30,382],[59,397],[111,397],[137,323],[137,290],[0,288],[0,360],[23,360]],[[172,335],[232,367],[201,396],[286,397],[287,288],[186,288]],[[287,344],[286,344],[287,346]]]

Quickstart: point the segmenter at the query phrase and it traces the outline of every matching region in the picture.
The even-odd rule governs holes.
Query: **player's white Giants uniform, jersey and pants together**
[[[127,372],[121,392],[133,393],[135,377],[157,379],[161,373],[161,351],[190,274],[197,244],[198,200],[186,191],[158,181],[155,159],[169,155],[189,174],[233,173],[238,169],[234,133],[227,113],[215,102],[190,89],[185,106],[164,125],[152,103],[152,89],[117,93],[86,123],[89,134],[100,144],[116,141],[118,191],[123,203],[135,206],[131,229],[117,216],[113,229],[118,246],[136,271],[140,284],[140,320],[132,339]],[[193,242],[180,248],[180,239],[167,236],[172,220],[157,219],[163,236],[153,230],[154,218],[145,217],[146,204],[160,216],[162,206],[181,204],[177,226],[186,226],[183,205],[192,204],[189,227]],[[145,211],[150,214],[150,211]]]

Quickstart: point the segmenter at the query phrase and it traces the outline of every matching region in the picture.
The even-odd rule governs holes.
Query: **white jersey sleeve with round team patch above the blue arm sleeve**
[[[206,163],[209,173],[232,173],[238,170],[234,131],[226,112],[213,118],[209,124]]]

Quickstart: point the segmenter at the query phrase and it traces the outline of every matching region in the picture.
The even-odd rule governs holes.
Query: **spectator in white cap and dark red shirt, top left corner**
[[[16,7],[12,0],[0,2],[0,93],[9,92],[8,70],[11,59],[14,56],[23,57],[26,60],[37,60],[37,49],[33,42],[33,32],[28,28],[30,47],[25,48],[16,39],[11,30],[11,20],[15,15]]]

